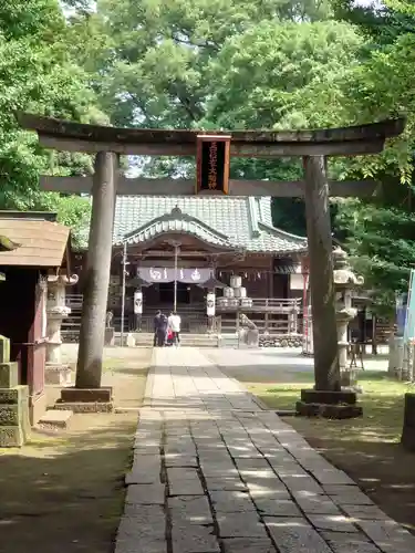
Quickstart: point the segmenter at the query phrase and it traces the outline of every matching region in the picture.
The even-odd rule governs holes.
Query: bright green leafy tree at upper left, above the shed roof
[[[39,190],[39,176],[84,174],[84,155],[44,153],[37,136],[19,128],[15,113],[28,111],[82,122],[100,118],[84,71],[66,54],[66,24],[56,0],[3,0],[0,7],[0,207],[58,211],[79,229],[89,217],[82,198]],[[59,40],[56,40],[59,38]]]

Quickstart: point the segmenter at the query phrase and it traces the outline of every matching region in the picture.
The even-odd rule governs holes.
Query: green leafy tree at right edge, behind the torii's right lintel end
[[[356,269],[366,286],[374,290],[377,310],[390,311],[395,292],[407,290],[409,270],[415,262],[414,147],[415,102],[415,9],[412,2],[385,0],[382,9],[342,4],[343,15],[371,36],[369,58],[356,67],[346,109],[363,121],[404,115],[405,133],[391,140],[385,153],[357,158],[343,166],[354,178],[380,181],[383,194],[371,202],[350,200],[339,204],[336,226],[346,237]]]

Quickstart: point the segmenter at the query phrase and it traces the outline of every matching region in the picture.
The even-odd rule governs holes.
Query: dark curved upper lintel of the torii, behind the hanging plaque
[[[121,155],[194,156],[200,135],[230,135],[230,155],[241,157],[351,156],[382,152],[398,136],[404,118],[311,131],[169,131],[118,128],[18,113],[23,128],[35,131],[42,146],[68,152]]]

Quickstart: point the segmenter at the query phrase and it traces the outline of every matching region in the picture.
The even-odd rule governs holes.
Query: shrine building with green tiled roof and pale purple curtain
[[[124,289],[124,330],[135,330],[134,293],[141,290],[139,327],[151,332],[155,312],[174,309],[176,285],[184,332],[206,332],[206,296],[215,291],[215,315],[229,330],[243,312],[261,331],[286,334],[289,312],[300,311],[305,252],[305,238],[273,227],[270,197],[118,196],[107,309],[120,330]],[[80,274],[83,259],[74,260]],[[69,302],[68,324],[76,325],[80,296]]]

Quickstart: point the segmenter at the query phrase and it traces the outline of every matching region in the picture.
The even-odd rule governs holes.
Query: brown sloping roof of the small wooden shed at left
[[[15,217],[0,212],[0,234],[19,244],[13,251],[0,255],[0,265],[61,267],[70,238],[70,229],[39,217]]]

